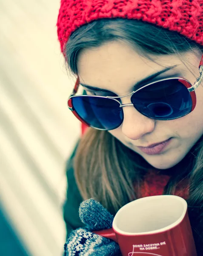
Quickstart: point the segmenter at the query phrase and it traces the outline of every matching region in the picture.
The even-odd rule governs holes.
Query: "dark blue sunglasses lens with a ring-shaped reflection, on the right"
[[[190,113],[192,99],[179,79],[168,79],[143,87],[131,97],[134,107],[158,120],[176,119]]]

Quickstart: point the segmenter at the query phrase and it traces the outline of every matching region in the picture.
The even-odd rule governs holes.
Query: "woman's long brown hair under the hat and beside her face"
[[[138,20],[100,19],[80,27],[65,48],[69,70],[77,74],[81,49],[98,47],[106,41],[122,40],[146,58],[148,54],[176,54],[192,51],[202,54],[203,47],[177,32]],[[151,59],[151,58],[150,58]],[[152,167],[152,166],[151,166]],[[74,173],[82,198],[96,198],[112,214],[137,198],[140,182],[149,164],[108,131],[89,128],[81,138],[74,159]],[[172,168],[164,194],[173,194],[177,184],[189,178],[188,205],[196,240],[203,239],[203,136],[184,159]],[[202,223],[202,226],[200,225]]]

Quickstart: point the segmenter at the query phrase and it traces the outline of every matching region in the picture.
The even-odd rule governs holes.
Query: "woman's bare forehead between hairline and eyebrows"
[[[167,71],[167,76],[181,72],[184,65],[176,55],[152,56],[144,58],[135,49],[123,42],[109,42],[100,47],[83,49],[78,56],[80,81],[102,89],[132,86],[160,70],[177,65]]]

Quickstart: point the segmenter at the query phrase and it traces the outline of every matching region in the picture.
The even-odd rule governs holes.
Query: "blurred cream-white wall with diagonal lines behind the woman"
[[[57,41],[60,0],[0,1],[0,195],[31,256],[60,256],[65,161],[80,134]]]

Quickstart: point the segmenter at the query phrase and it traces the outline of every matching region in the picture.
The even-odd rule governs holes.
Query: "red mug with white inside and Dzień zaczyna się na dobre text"
[[[187,203],[176,195],[132,201],[111,229],[93,232],[116,241],[123,256],[197,256]]]

